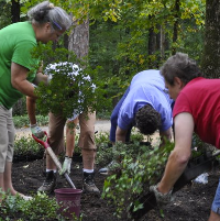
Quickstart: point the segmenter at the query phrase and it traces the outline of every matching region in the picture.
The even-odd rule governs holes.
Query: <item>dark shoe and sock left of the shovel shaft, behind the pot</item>
[[[45,191],[47,194],[54,191],[56,187],[56,173],[53,170],[46,172],[46,179],[43,185],[37,189],[37,191]]]

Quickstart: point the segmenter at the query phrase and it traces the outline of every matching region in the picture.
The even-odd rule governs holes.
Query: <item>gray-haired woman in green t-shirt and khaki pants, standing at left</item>
[[[32,82],[47,82],[47,76],[34,69],[40,62],[32,57],[31,51],[37,42],[57,41],[72,25],[67,12],[50,1],[32,8],[28,16],[26,22],[0,30],[0,188],[24,199],[30,198],[16,192],[11,181],[14,146],[12,107],[23,95],[35,98]]]

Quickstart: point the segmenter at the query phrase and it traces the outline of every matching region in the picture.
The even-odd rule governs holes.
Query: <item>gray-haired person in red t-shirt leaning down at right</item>
[[[172,189],[185,170],[191,154],[193,133],[220,148],[220,79],[206,79],[196,62],[177,53],[161,68],[173,110],[175,147],[168,157],[161,181],[151,186],[160,205],[172,200]],[[209,221],[220,221],[220,184],[211,206]]]

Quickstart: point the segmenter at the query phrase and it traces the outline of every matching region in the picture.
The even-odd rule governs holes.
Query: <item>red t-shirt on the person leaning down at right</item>
[[[204,142],[220,148],[220,79],[189,81],[176,99],[173,117],[182,112],[193,115],[194,130]]]

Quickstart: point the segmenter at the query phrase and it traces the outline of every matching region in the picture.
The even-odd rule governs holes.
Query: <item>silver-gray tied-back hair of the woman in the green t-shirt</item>
[[[29,21],[34,24],[51,22],[54,30],[65,31],[72,25],[72,18],[65,10],[43,1],[28,11]]]

